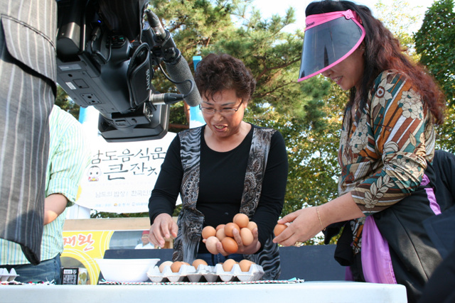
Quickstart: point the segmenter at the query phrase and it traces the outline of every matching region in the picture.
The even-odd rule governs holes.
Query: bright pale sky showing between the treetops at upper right
[[[269,18],[273,14],[279,14],[279,16],[284,16],[284,13],[290,6],[296,9],[296,23],[291,26],[288,26],[287,31],[293,32],[296,28],[305,28],[305,9],[308,4],[310,4],[313,0],[254,0],[253,6],[255,6],[259,11],[261,11],[262,18]],[[376,0],[351,0],[356,4],[363,4],[368,6],[372,11],[373,15],[376,15],[375,12],[375,4]],[[420,28],[422,24],[422,20],[424,17],[425,11],[432,6],[434,0],[408,0],[411,7],[422,6],[419,9],[416,9],[416,13],[421,15],[421,20],[419,20],[419,24],[416,25],[416,31]],[[392,4],[393,0],[382,0],[383,4]]]

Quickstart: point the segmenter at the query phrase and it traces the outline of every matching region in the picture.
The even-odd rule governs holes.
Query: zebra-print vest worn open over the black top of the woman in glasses
[[[253,136],[245,173],[245,187],[240,204],[240,212],[250,219],[255,214],[262,192],[269,155],[270,141],[275,130],[253,126]],[[202,127],[191,128],[178,133],[181,143],[181,161],[183,180],[181,185],[182,210],[178,215],[178,235],[174,241],[173,260],[192,263],[196,259],[203,228],[204,216],[196,209],[199,192],[200,172],[200,136]],[[264,243],[259,253],[244,255],[264,269],[262,280],[277,280],[281,272],[277,243],[272,242],[273,235]]]

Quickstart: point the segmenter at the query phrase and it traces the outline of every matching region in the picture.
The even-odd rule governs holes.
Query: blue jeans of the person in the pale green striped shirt
[[[55,284],[61,284],[60,281],[60,268],[62,263],[60,262],[60,253],[55,258],[41,261],[38,265],[32,264],[19,264],[19,265],[1,265],[2,268],[6,268],[8,271],[11,268],[16,270],[17,282],[53,282]]]

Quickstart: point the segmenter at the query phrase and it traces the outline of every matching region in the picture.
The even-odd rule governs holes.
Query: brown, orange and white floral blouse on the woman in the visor
[[[435,133],[428,107],[406,76],[395,70],[375,79],[364,109],[354,112],[355,119],[348,108],[343,120],[338,194],[351,192],[368,216],[419,187],[427,161],[434,156]],[[362,222],[351,222],[357,241]]]

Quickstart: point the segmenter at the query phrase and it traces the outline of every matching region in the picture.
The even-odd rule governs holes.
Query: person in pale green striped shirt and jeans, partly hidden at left
[[[0,266],[19,275],[18,282],[60,284],[63,224],[72,206],[82,173],[90,162],[90,149],[82,126],[71,114],[54,105],[49,117],[50,149],[45,171],[45,205],[41,263],[31,264],[17,243],[0,239]],[[43,223],[41,223],[43,224]]]

